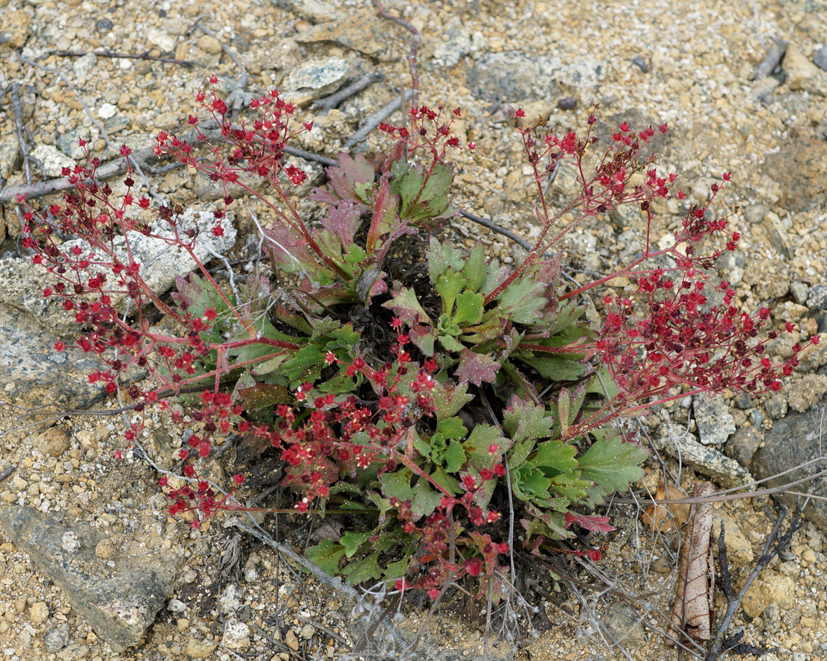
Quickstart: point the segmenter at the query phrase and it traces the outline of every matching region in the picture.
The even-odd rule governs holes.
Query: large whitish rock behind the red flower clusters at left
[[[236,228],[232,225],[232,217],[227,216],[223,222],[224,235],[215,236],[211,231],[215,224],[212,212],[189,208],[181,216],[179,232],[198,229],[198,239],[195,241],[194,253],[202,264],[213,259],[213,253],[222,254],[232,248],[236,242]],[[174,232],[165,221],[157,221],[152,226],[152,233],[166,238],[172,238]],[[128,264],[126,243],[121,235],[113,240],[118,259]],[[78,247],[82,254],[88,254],[90,246],[84,240],[74,239],[65,241],[60,250],[68,254],[74,247]],[[195,268],[194,260],[184,250],[175,250],[164,240],[135,232],[130,237],[130,248],[133,258],[141,264],[141,277],[156,294],[169,289],[175,281],[175,276],[186,276]],[[98,273],[94,268],[88,269],[89,276]],[[74,316],[66,313],[57,297],[44,298],[43,289],[53,284],[50,273],[43,266],[32,264],[31,259],[24,257],[10,257],[0,259],[0,302],[9,307],[29,312],[35,316],[43,326],[58,334],[68,334],[75,331]],[[122,308],[126,299],[122,294],[112,296],[116,307]]]

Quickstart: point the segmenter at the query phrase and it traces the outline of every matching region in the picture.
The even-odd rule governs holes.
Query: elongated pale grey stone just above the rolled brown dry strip
[[[686,432],[685,426],[667,423],[658,427],[653,443],[658,452],[680,458],[683,464],[689,464],[724,487],[743,487],[754,482],[746,468],[717,449],[698,443],[694,435]]]

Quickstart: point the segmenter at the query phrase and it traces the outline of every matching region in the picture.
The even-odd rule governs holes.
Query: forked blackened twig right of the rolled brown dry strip
[[[705,661],[715,661],[715,659],[718,659],[722,651],[724,635],[726,635],[727,630],[729,630],[729,625],[732,624],[732,619],[741,606],[741,601],[747,594],[749,587],[752,586],[753,581],[758,578],[758,574],[767,568],[770,560],[786,549],[792,540],[792,535],[795,535],[796,530],[801,528],[801,510],[803,507],[800,498],[796,502],[796,509],[793,511],[790,526],[787,528],[786,533],[781,536],[779,536],[781,525],[786,519],[788,510],[786,506],[783,505],[779,508],[778,516],[772,525],[772,532],[767,536],[767,542],[764,544],[761,557],[758,558],[758,562],[755,564],[755,567],[753,567],[753,571],[749,573],[747,580],[743,583],[743,587],[741,587],[738,594],[735,594],[729,575],[729,562],[726,557],[726,543],[724,540],[724,522],[721,522],[721,531],[718,538],[718,564],[720,567],[721,590],[724,592],[724,597],[726,597],[726,611],[724,611],[724,618],[721,620],[718,630],[715,633],[715,638],[712,639],[712,645],[709,654],[706,655]],[[773,544],[775,545],[773,546]]]

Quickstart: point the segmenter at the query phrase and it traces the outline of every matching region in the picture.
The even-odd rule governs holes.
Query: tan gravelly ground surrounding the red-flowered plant
[[[662,167],[681,175],[687,202],[700,202],[724,170],[734,173],[717,209],[733,214],[732,222],[743,237],[739,254],[725,269],[739,304],[754,310],[769,302],[777,310],[777,324],[795,321],[805,335],[827,331],[824,307],[810,300],[812,288],[825,282],[827,268],[827,71],[812,64],[827,43],[825,2],[480,0],[479,13],[462,0],[388,6],[423,33],[421,100],[462,107],[461,138],[478,145],[475,155],[463,152],[457,157],[456,202],[466,210],[485,214],[526,237],[538,230],[528,211],[534,193],[526,183],[509,119],[516,104],[526,108],[528,117],[548,115],[549,124],[560,130],[581,129],[594,102],[600,103],[600,117],[609,124],[627,119],[643,128],[668,121],[673,130],[657,149]],[[0,0],[0,17],[0,31],[8,36],[0,39],[5,40],[0,45],[0,88],[21,83],[22,122],[31,131],[27,137],[47,177],[59,174],[60,167],[77,156],[73,150],[79,136],[88,136],[103,159],[111,155],[93,119],[116,146],[140,148],[151,144],[158,130],[180,130],[208,73],[230,81],[222,83],[229,92],[235,86],[232,81],[246,70],[246,90],[258,92],[272,85],[289,86],[290,72],[307,60],[343,59],[350,68],[348,76],[354,78],[382,71],[384,83],[315,117],[318,129],[304,136],[302,146],[327,156],[337,155],[366,114],[395,97],[395,83],[409,81],[404,57],[408,34],[375,18],[366,3],[355,0],[226,0],[209,5],[179,0],[152,6],[129,0]],[[316,24],[337,17],[345,17],[337,23],[344,26],[339,42],[313,40]],[[753,70],[774,37],[789,42],[783,63],[786,75],[753,80]],[[203,66],[49,55],[63,50],[111,50]],[[505,51],[519,51],[519,72],[498,74],[495,55]],[[824,61],[827,55],[821,52]],[[41,67],[30,64],[34,61]],[[525,70],[552,69],[554,83],[526,83],[523,65]],[[498,89],[508,89],[511,96],[500,97]],[[15,155],[17,126],[10,97],[0,99],[0,175],[7,187],[26,181]],[[572,101],[574,109],[561,109]],[[304,109],[304,117],[311,114]],[[381,140],[375,131],[360,149],[375,150]],[[316,166],[304,167],[320,174]],[[32,168],[35,179],[41,178],[38,165]],[[184,205],[215,200],[221,194],[211,182],[184,169],[151,181],[156,193]],[[556,194],[564,195],[571,187],[570,176],[562,172],[554,186]],[[304,211],[313,213],[312,203],[302,204]],[[255,202],[249,202],[249,208],[259,217],[263,213]],[[676,201],[663,205],[653,227],[656,242],[676,228],[681,208]],[[13,250],[20,234],[17,215],[10,207],[0,213],[0,248]],[[519,247],[479,226],[452,221],[452,227],[466,245],[482,240],[505,262],[519,254]],[[239,218],[239,229],[241,235],[250,235],[254,227],[249,217]],[[571,236],[567,269],[584,282],[591,273],[606,273],[624,254],[640,250],[643,232],[634,214],[595,218]],[[231,257],[245,254],[243,240],[235,250]],[[609,285],[620,291],[629,283],[618,278]],[[775,350],[783,354],[784,347]],[[743,408],[735,407],[732,397],[726,401],[739,430],[753,427],[760,438],[788,406],[803,410],[817,402],[827,391],[825,380],[823,375],[796,374],[780,398]],[[777,415],[773,407],[783,411]],[[6,542],[0,544],[4,658],[313,659],[333,658],[349,649],[351,606],[336,592],[307,573],[299,578],[296,568],[249,537],[239,547],[241,564],[228,563],[230,568],[222,569],[222,553],[227,559],[232,556],[237,530],[225,528],[222,519],[201,530],[167,519],[164,497],[154,486],[156,475],[146,462],[131,454],[120,464],[112,459],[120,446],[116,417],[74,417],[59,423],[65,433],[41,435],[41,428],[8,431],[22,424],[13,413],[0,409],[0,430],[7,430],[0,435],[0,472],[17,466],[0,483],[0,501],[88,521],[125,540],[146,530],[147,543],[154,539],[152,543],[166,545],[180,560],[171,595],[180,606],[170,602],[160,611],[140,648],[114,654],[72,611],[62,593]],[[664,421],[686,425],[686,410],[679,403],[657,415],[659,419],[648,421],[653,430]],[[691,431],[694,424],[691,421]],[[147,445],[169,451],[180,443],[170,434],[163,421],[156,420],[147,430]],[[668,465],[676,469],[677,464],[669,459]],[[215,481],[221,481],[224,468],[218,462],[211,467]],[[648,476],[649,486],[656,478],[656,473]],[[687,488],[700,479],[687,468],[681,473]],[[736,583],[748,573],[749,554],[758,556],[772,528],[763,512],[765,500],[721,508],[743,532]],[[631,506],[614,506],[613,512],[620,529],[600,568],[643,597],[645,603],[633,611],[633,618],[662,624],[657,613],[671,607],[676,537],[653,534]],[[283,517],[281,538],[300,549],[306,524]],[[294,534],[285,537],[284,530]],[[736,617],[734,625],[743,626],[743,642],[777,648],[762,659],[827,656],[823,542],[819,530],[805,525],[793,538],[791,554],[772,561],[745,612]],[[230,594],[225,602],[238,600],[232,617],[246,626],[246,642],[244,627],[241,635],[227,635],[231,611],[221,606],[219,597],[236,589],[227,586],[240,587],[239,594]],[[538,602],[555,624],[536,640],[527,640],[518,659],[676,658],[676,652],[662,647],[660,635],[634,627],[633,620],[620,621],[615,629],[624,639],[625,651],[594,634],[590,611],[619,609],[610,597],[587,607],[571,595],[567,598],[573,618]],[[722,610],[724,603],[716,606]],[[422,619],[422,613],[412,610],[402,628],[414,630]],[[467,656],[480,652],[480,626],[463,616],[458,605],[447,606],[430,630],[437,644],[456,647]],[[45,637],[50,631],[65,631],[65,641],[60,640],[62,633]]]

